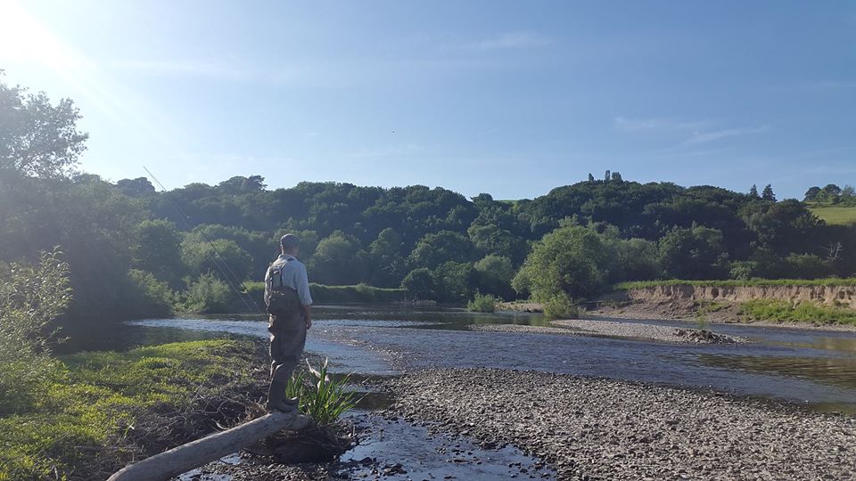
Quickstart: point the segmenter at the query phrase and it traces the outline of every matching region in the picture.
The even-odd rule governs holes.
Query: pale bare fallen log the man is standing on
[[[108,481],[164,481],[185,473],[226,454],[239,451],[259,439],[283,429],[304,429],[312,420],[302,414],[296,417],[284,412],[271,412],[235,428],[227,429],[120,469]]]

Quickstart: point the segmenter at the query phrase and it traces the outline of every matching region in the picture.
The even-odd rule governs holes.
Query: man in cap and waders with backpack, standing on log
[[[285,234],[279,240],[282,254],[265,273],[265,304],[270,320],[270,388],[268,411],[297,413],[296,398],[285,397],[285,386],[300,363],[306,330],[312,327],[309,279],[306,266],[297,260],[300,240]]]

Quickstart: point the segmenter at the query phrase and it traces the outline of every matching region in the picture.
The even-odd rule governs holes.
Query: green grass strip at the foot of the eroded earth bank
[[[741,304],[738,313],[759,321],[856,325],[856,311],[811,302],[794,306],[789,301],[754,299]]]

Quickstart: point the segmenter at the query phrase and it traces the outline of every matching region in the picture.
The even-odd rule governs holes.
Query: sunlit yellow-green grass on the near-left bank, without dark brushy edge
[[[201,385],[250,380],[250,342],[211,340],[63,356],[33,404],[0,418],[0,479],[80,478],[154,406],[189,405]],[[2,393],[0,393],[2,395]]]

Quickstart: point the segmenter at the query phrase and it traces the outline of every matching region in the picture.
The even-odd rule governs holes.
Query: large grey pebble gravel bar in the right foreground
[[[408,420],[514,444],[560,479],[856,479],[851,416],[536,371],[423,371],[389,386]]]

